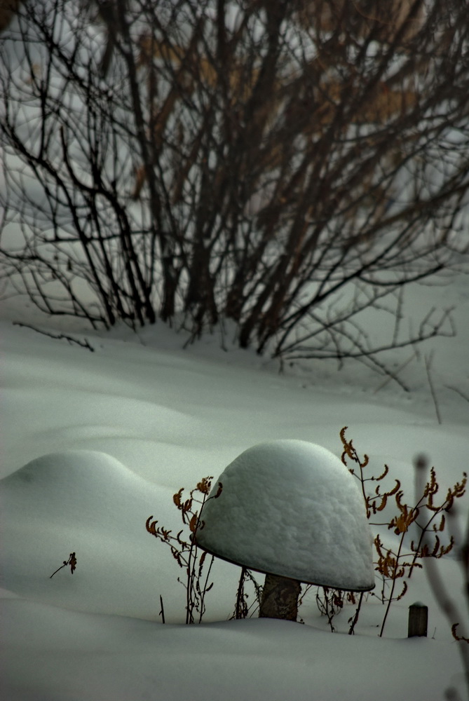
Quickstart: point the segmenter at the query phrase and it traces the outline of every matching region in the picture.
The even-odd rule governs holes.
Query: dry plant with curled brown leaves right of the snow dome
[[[446,495],[437,503],[437,492],[440,489],[440,485],[437,482],[435,468],[431,468],[430,477],[426,484],[422,486],[421,496],[416,495],[414,505],[409,505],[405,501],[405,494],[400,489],[401,485],[398,479],[395,480],[395,485],[391,489],[383,489],[381,491],[381,482],[389,472],[388,465],[385,465],[384,471],[378,477],[374,475],[365,477],[364,469],[368,465],[369,458],[366,454],[362,458],[358,456],[352,440],[346,439],[346,430],[347,426],[342,428],[340,432],[341,442],[344,447],[341,460],[346,466],[348,466],[347,461],[353,461],[358,465],[358,468],[348,469],[360,482],[368,519],[383,512],[386,505],[391,503],[397,508],[395,515],[388,521],[369,521],[372,526],[387,526],[389,530],[392,529],[394,531],[396,536],[399,536],[396,550],[392,547],[385,547],[379,535],[376,535],[374,538],[377,556],[374,564],[376,571],[382,577],[381,601],[383,604],[386,604],[386,611],[379,633],[382,636],[391,603],[399,601],[405,596],[407,592],[405,579],[412,576],[415,568],[421,569],[422,567],[418,560],[426,557],[439,559],[453,549],[454,537],[451,536],[449,543],[443,545],[441,543],[442,536],[439,534],[444,533],[447,523],[445,515],[453,508],[454,500],[465,493],[467,475],[463,472],[461,482],[456,482],[454,486],[449,487]],[[418,459],[416,461],[416,469],[419,470],[422,466],[423,461]],[[367,493],[366,484],[368,482],[377,483],[374,494]],[[420,535],[418,540],[411,540],[410,552],[406,552],[408,548],[405,547],[405,540],[412,524],[415,524],[415,528],[419,529]],[[400,590],[397,590],[398,580],[402,582]],[[390,591],[387,593],[386,590],[389,586]],[[376,594],[372,594],[372,596],[376,596]]]

